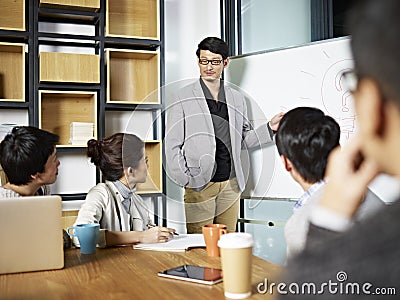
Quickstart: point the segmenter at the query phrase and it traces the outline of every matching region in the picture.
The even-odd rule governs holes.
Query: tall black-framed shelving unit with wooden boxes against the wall
[[[146,131],[134,132],[145,136],[149,157],[148,179],[137,191],[163,201],[165,225],[163,130],[155,122],[163,107],[163,6],[163,0],[2,0],[0,116],[27,111],[29,125],[60,136],[57,149],[66,167],[53,188],[67,201],[84,200],[102,181],[86,160],[86,144],[69,144],[70,124],[93,123],[94,137],[103,138],[106,128],[107,135],[115,133],[106,114],[115,119],[121,113],[131,128]],[[70,31],[79,26],[84,30]],[[142,114],[127,118],[131,112]],[[115,130],[126,132],[127,125]],[[75,217],[64,215],[68,223]]]

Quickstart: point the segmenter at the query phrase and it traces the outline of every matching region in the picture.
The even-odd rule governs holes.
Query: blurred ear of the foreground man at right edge
[[[385,104],[379,86],[374,80],[369,78],[360,80],[356,106],[362,128],[369,134],[381,136],[385,131]]]

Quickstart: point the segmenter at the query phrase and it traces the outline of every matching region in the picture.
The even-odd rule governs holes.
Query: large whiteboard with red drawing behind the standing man
[[[339,123],[343,145],[356,131],[353,99],[342,76],[352,67],[350,38],[344,37],[231,57],[225,81],[245,95],[248,118],[255,127],[280,111],[317,107]],[[250,155],[243,151],[242,158],[244,170],[249,172],[243,197],[298,198],[303,194],[284,169],[275,146],[254,150]],[[378,190],[385,190],[387,184],[392,187],[389,181],[381,180]]]

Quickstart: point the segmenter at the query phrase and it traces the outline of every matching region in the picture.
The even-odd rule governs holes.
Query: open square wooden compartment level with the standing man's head
[[[159,104],[159,51],[107,49],[107,102]]]

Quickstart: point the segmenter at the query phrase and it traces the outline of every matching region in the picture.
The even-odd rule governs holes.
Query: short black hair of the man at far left
[[[0,143],[0,164],[8,181],[25,185],[32,175],[43,173],[58,139],[58,135],[36,127],[14,127]]]

